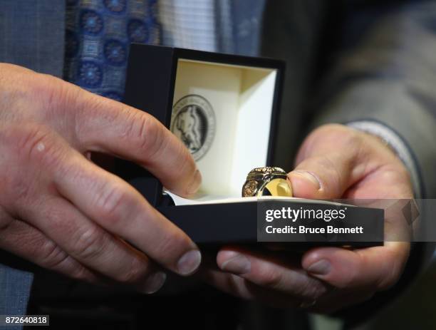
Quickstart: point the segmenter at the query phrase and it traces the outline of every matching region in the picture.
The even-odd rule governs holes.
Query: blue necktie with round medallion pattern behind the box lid
[[[160,44],[157,0],[67,0],[64,78],[122,100],[131,42]]]

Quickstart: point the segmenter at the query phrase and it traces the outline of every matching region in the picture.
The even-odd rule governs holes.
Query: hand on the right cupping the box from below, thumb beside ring
[[[303,142],[296,164],[288,175],[295,197],[413,197],[408,171],[393,151],[379,138],[343,125],[314,130]],[[395,226],[402,222],[386,230]],[[209,284],[238,297],[331,313],[395,284],[409,251],[408,242],[385,242],[355,250],[318,247],[301,258],[283,251],[224,247],[217,254],[219,269],[203,268],[200,274]]]

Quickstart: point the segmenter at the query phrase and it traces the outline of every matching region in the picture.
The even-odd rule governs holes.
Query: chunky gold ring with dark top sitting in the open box
[[[280,167],[257,167],[246,176],[242,197],[285,196],[292,197],[286,172]]]

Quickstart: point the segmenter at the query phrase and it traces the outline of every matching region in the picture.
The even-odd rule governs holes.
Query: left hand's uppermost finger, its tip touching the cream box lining
[[[197,191],[201,175],[189,150],[152,115],[86,91],[70,106],[82,148],[133,160],[178,195]]]

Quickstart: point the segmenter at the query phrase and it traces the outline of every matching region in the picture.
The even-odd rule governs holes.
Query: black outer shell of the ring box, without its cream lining
[[[284,62],[269,58],[234,56],[181,48],[132,44],[125,86],[125,103],[143,110],[170,128],[177,63],[180,59],[234,66],[251,66],[276,70],[276,83],[271,112],[271,128],[266,165],[274,166],[273,145],[276,143],[276,121],[280,108]],[[184,230],[199,244],[256,244],[256,202],[234,202],[209,205],[174,206],[162,195],[162,185],[147,170],[133,163],[120,161],[118,175],[130,182],[151,205]],[[382,221],[377,217],[374,221]],[[383,235],[383,225],[381,225]],[[327,244],[328,242],[326,242]],[[313,242],[296,243],[299,247]],[[338,242],[354,246],[373,246],[380,242]],[[288,245],[288,244],[286,244]]]

